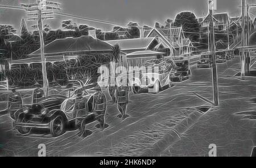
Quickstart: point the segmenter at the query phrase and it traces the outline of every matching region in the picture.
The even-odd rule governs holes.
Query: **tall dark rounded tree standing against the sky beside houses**
[[[200,24],[196,19],[196,15],[192,12],[180,12],[176,15],[174,21],[175,27],[182,27],[184,36],[191,41],[197,41],[199,38]]]

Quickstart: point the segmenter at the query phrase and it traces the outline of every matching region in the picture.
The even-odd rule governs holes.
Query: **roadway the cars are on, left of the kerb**
[[[239,71],[239,62],[240,58],[236,57],[225,64],[218,64],[221,103],[234,97],[253,98],[256,95],[256,85],[251,85],[248,90],[242,84],[243,81],[233,77]],[[67,132],[57,138],[47,135],[23,137],[13,130],[8,115],[0,116],[1,128],[9,135],[2,153],[5,156],[37,156],[38,145],[45,144],[47,156],[141,156],[147,150],[155,148],[154,144],[163,140],[172,129],[178,128],[177,125],[182,120],[196,113],[197,107],[211,106],[192,93],[196,92],[212,100],[211,69],[196,69],[192,65],[191,72],[191,79],[174,83],[174,87],[159,94],[131,95],[131,103],[127,108],[130,117],[126,120],[116,117],[116,105],[108,104],[106,123],[109,127],[100,131],[93,124],[89,125],[88,129],[93,134],[86,138],[77,136],[78,131]],[[204,113],[197,116],[201,115]],[[184,131],[192,125],[187,126]],[[171,144],[165,145],[168,147]],[[164,150],[166,149],[160,153]]]

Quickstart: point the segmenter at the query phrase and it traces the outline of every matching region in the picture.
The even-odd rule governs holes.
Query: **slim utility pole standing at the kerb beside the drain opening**
[[[213,0],[208,0],[209,3],[209,48],[212,54],[212,83],[213,83],[213,102],[214,106],[218,106],[218,72],[216,65],[216,48],[214,42],[214,22],[213,22]]]

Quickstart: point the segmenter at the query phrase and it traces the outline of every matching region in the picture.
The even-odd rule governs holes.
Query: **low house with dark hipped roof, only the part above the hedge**
[[[46,62],[54,63],[63,60],[73,60],[78,56],[105,56],[112,57],[113,45],[105,41],[98,40],[92,36],[68,37],[65,39],[57,39],[44,47]],[[125,53],[121,52],[121,60],[125,61]],[[23,60],[13,60],[9,65],[15,64],[33,64],[41,63],[41,51],[37,51],[28,55]]]

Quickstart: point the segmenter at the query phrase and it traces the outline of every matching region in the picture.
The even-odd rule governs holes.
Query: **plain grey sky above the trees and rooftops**
[[[0,0],[0,4],[17,6],[19,3],[33,2],[34,0]],[[163,23],[167,18],[174,19],[181,11],[192,11],[196,16],[204,16],[208,12],[208,0],[51,0],[61,3],[62,10],[68,14],[108,20],[110,22],[127,24],[129,21],[138,22],[141,26],[154,26],[155,22]],[[238,6],[241,0],[216,0],[217,10],[214,12],[229,12],[231,16],[240,15]],[[246,0],[247,3],[256,3],[255,0]],[[251,17],[256,12],[251,10]],[[23,11],[0,9],[0,24],[13,24],[19,27],[20,20],[26,17]],[[51,27],[60,27],[61,20],[69,18],[57,16],[51,21]],[[74,20],[78,24],[88,24],[108,31],[111,25]],[[28,22],[28,25],[32,22]]]

